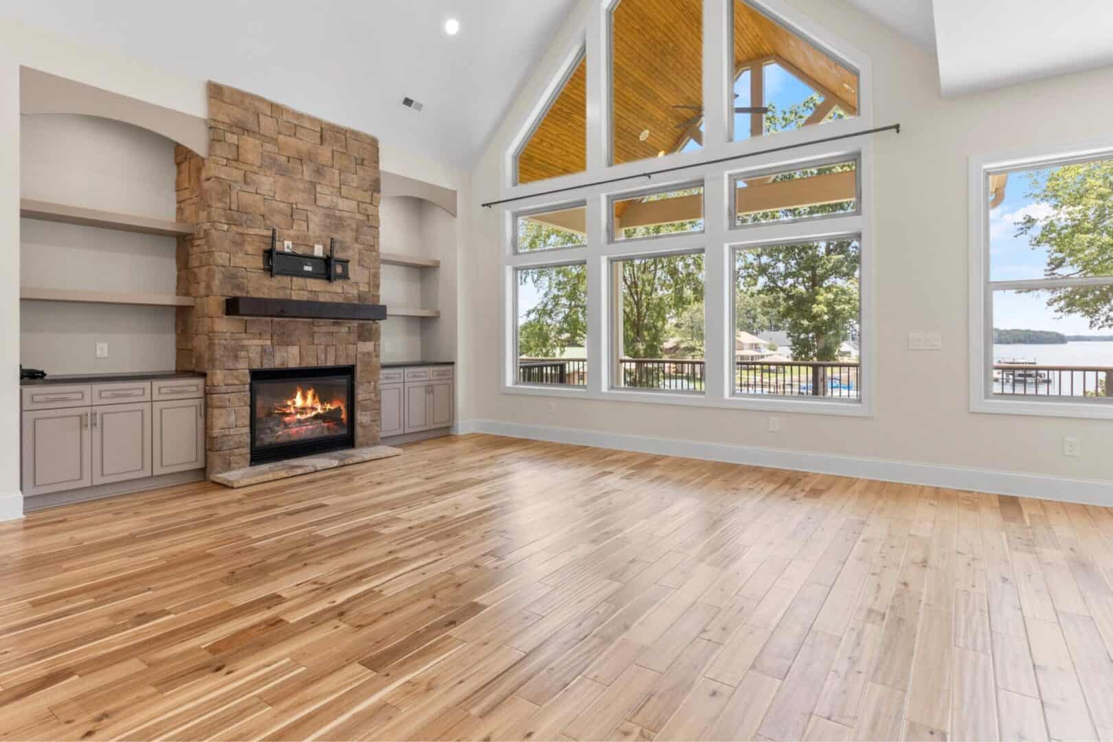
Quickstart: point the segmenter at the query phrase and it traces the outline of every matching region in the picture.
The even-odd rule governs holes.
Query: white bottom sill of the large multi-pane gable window
[[[642,405],[673,405],[680,407],[707,407],[712,409],[749,409],[756,412],[778,412],[804,415],[834,415],[840,417],[873,417],[867,402],[811,402],[786,398],[752,399],[743,397],[709,397],[698,393],[652,392],[650,389],[607,389],[597,392],[582,386],[546,387],[526,385],[503,385],[503,394],[524,396],[565,397],[593,399],[599,402],[632,402]],[[1111,409],[1113,412],[1113,409]]]

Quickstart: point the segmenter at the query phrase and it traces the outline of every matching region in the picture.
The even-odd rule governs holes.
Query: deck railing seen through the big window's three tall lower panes
[[[702,392],[706,364],[701,359],[622,358],[621,384],[628,388]],[[521,384],[583,386],[585,358],[520,358]],[[860,399],[858,364],[849,362],[739,360],[735,364],[736,394],[817,396]]]

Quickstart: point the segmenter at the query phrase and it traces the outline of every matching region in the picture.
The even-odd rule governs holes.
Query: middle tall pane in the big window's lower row
[[[611,263],[612,385],[703,392],[703,255]]]

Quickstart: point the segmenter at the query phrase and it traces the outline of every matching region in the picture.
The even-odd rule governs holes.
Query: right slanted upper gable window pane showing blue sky
[[[857,115],[855,70],[749,2],[733,14],[735,141]]]

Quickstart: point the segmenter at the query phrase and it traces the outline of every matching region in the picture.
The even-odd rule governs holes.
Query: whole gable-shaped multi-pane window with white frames
[[[769,2],[592,6],[587,170],[520,187],[528,160],[563,161],[561,142],[583,140],[577,122],[530,149],[562,120],[577,59],[540,123],[519,123],[525,149],[504,152],[523,177],[504,170],[491,194],[515,204],[501,229],[504,392],[871,414],[873,150],[830,139],[874,127],[869,60]],[[790,130],[784,147],[762,140]],[[667,436],[657,419],[646,435]]]

